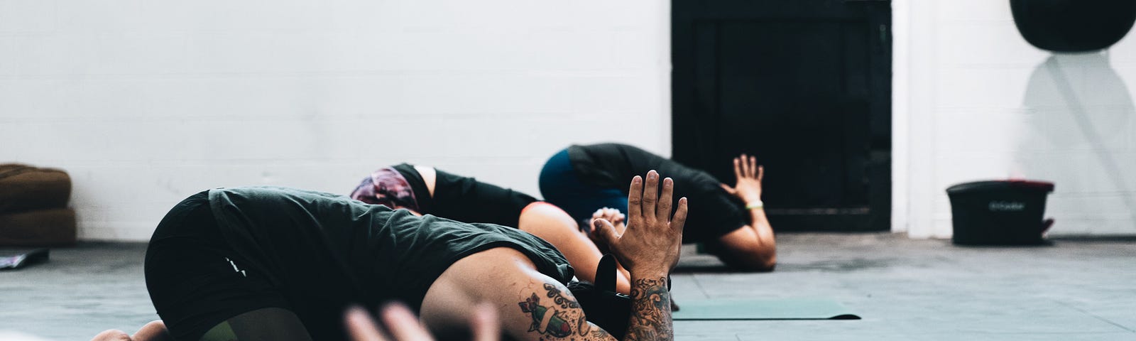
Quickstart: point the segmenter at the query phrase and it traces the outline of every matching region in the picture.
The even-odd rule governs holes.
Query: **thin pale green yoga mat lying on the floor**
[[[832,299],[705,299],[678,300],[675,321],[724,319],[860,319],[860,316]]]

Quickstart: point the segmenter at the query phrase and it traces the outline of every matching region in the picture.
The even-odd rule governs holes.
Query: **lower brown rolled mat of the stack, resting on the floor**
[[[75,211],[41,209],[0,215],[0,246],[58,247],[75,244]]]

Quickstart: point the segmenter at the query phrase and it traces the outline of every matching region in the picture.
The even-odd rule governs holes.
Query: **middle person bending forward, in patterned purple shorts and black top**
[[[350,197],[367,203],[408,209],[416,215],[519,228],[556,246],[582,280],[595,281],[596,265],[602,256],[600,249],[577,228],[567,213],[532,196],[429,166],[400,164],[364,177]],[[618,292],[629,293],[626,271],[620,271],[616,283]]]

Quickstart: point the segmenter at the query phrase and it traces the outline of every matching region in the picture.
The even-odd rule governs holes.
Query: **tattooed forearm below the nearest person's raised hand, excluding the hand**
[[[638,275],[632,272],[630,296],[632,316],[624,340],[674,340],[667,275],[655,273]]]

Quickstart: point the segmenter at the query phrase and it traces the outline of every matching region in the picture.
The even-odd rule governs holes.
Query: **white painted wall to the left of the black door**
[[[85,240],[401,161],[538,196],[569,143],[670,153],[669,59],[668,1],[0,0],[0,161],[70,172]]]

